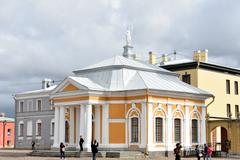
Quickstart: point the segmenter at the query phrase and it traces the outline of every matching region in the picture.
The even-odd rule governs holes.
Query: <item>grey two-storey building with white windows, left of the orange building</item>
[[[43,83],[47,84],[44,80]],[[53,144],[54,110],[49,104],[49,92],[55,86],[15,95],[15,148],[50,149]]]

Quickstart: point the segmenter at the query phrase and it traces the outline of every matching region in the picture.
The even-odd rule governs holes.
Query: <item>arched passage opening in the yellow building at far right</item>
[[[227,129],[218,126],[211,131],[211,145],[215,151],[226,152],[226,141],[228,140]]]

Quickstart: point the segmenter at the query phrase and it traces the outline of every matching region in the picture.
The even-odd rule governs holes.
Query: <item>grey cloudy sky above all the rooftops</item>
[[[123,52],[126,28],[146,57],[177,53],[240,66],[238,0],[0,0],[0,112],[13,116],[12,95],[61,80],[72,70]]]

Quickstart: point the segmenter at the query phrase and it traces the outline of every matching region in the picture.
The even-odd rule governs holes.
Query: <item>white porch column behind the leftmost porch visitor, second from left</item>
[[[59,114],[59,143],[65,143],[65,108],[60,106]]]

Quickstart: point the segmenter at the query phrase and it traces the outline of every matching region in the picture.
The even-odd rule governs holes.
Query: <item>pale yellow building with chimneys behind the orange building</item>
[[[230,151],[239,153],[240,70],[209,63],[207,50],[194,52],[193,57],[193,60],[163,62],[161,67],[178,73],[182,81],[209,91],[215,96],[214,100],[206,101],[213,101],[207,108],[207,142],[216,150],[225,151],[225,141],[230,140]]]

